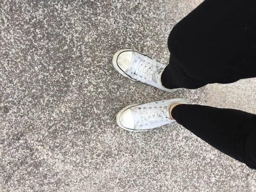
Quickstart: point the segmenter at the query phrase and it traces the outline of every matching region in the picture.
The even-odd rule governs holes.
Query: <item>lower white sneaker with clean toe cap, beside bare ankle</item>
[[[140,132],[175,122],[169,114],[169,108],[173,103],[188,104],[186,100],[176,98],[129,105],[117,114],[117,124],[127,131]]]

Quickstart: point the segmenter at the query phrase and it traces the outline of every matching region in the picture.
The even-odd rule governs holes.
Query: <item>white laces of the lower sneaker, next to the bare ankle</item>
[[[140,127],[148,125],[148,123],[152,124],[158,121],[166,121],[168,111],[167,106],[137,108],[137,112],[140,113]]]

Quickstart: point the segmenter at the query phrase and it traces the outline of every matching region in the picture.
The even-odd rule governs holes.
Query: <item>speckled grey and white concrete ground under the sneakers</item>
[[[0,0],[1,192],[253,192],[256,172],[178,124],[118,128],[134,102],[183,97],[256,113],[256,79],[165,93],[117,73],[123,48],[168,63],[201,0]]]

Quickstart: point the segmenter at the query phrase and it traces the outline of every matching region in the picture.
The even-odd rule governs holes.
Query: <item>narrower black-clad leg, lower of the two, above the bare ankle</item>
[[[183,104],[172,108],[171,116],[209,145],[256,169],[256,115]]]

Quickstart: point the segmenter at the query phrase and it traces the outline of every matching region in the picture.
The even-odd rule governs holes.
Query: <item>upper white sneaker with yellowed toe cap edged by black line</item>
[[[122,76],[133,81],[141,81],[170,93],[179,90],[163,87],[161,75],[166,66],[138,51],[123,49],[116,52],[113,66]]]

